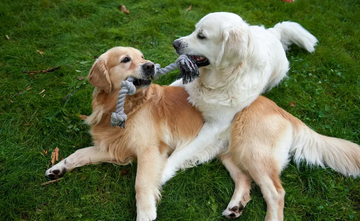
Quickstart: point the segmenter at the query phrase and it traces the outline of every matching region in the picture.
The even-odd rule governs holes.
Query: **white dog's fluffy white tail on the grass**
[[[274,28],[268,30],[279,38],[285,51],[289,49],[292,43],[309,52],[315,51],[314,46],[318,39],[296,22],[277,23]]]

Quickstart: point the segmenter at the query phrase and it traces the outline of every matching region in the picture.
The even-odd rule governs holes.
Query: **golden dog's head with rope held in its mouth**
[[[89,82],[106,93],[121,89],[121,82],[134,77],[136,92],[147,88],[155,75],[155,65],[132,47],[113,47],[102,54],[90,70]]]

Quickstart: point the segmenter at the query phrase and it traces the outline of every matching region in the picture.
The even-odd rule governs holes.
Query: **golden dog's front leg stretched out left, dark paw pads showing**
[[[100,162],[111,162],[109,153],[100,151],[99,148],[95,146],[78,149],[72,155],[46,170],[45,177],[49,179],[59,178],[75,167],[86,164],[99,164]]]

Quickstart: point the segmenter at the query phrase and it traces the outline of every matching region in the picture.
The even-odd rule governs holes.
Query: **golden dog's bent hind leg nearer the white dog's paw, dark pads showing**
[[[241,171],[238,166],[234,165],[229,156],[221,155],[220,159],[235,183],[233,197],[231,198],[228,207],[222,212],[222,215],[227,218],[238,218],[243,212],[247,202],[250,201],[252,179],[249,175]]]

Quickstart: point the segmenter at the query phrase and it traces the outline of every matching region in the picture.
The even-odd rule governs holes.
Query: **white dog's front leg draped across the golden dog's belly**
[[[226,125],[227,126],[227,125]],[[201,164],[214,158],[221,147],[216,145],[219,134],[226,128],[218,124],[205,122],[195,139],[183,148],[175,151],[167,159],[167,164],[162,173],[162,184],[165,184],[176,171],[187,165]]]

